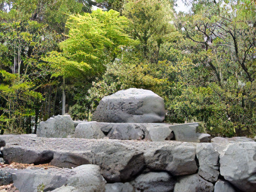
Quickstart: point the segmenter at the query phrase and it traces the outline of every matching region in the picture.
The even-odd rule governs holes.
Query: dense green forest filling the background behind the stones
[[[0,0],[0,129],[31,133],[67,113],[90,120],[103,96],[164,98],[166,122],[214,136],[256,134],[256,2]],[[101,9],[95,9],[95,7]]]

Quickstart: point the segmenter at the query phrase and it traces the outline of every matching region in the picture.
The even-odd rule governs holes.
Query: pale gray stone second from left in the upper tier
[[[105,135],[100,130],[100,127],[95,126],[94,122],[79,123],[75,129],[75,138],[86,138],[86,139],[101,139]]]

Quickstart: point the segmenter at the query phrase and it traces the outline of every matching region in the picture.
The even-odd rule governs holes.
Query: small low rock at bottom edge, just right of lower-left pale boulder
[[[135,192],[134,187],[126,183],[108,183],[105,185],[105,192]]]

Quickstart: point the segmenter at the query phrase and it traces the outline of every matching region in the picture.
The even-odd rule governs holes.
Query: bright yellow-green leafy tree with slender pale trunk
[[[60,43],[61,52],[50,52],[44,60],[52,76],[63,79],[62,113],[65,113],[64,80],[89,80],[104,72],[104,64],[113,62],[133,40],[126,34],[128,20],[119,12],[93,11],[91,14],[70,15],[66,23],[67,39]],[[74,83],[74,81],[73,81]]]

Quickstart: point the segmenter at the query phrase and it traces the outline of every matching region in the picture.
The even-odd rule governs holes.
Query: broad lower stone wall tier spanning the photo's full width
[[[60,167],[5,170],[20,192],[36,192],[42,183],[54,192],[256,192],[256,142],[249,138],[194,143],[28,134],[0,140],[7,163]]]

